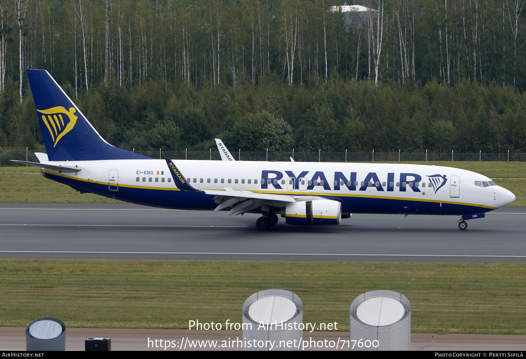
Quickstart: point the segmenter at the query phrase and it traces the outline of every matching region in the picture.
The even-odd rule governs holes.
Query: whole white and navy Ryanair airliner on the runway
[[[278,222],[339,224],[351,213],[456,215],[466,220],[512,203],[490,178],[464,169],[366,163],[152,159],[110,145],[45,70],[28,70],[47,156],[42,174],[81,193],[179,210],[262,214],[258,230]],[[177,214],[174,214],[177,215]]]

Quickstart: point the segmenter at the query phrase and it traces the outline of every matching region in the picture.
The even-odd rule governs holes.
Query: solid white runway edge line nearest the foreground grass
[[[478,255],[478,254],[362,254],[362,253],[239,253],[239,252],[94,252],[94,251],[0,251],[0,253],[87,253],[87,254],[230,254],[230,255],[320,255],[320,256],[366,256],[366,257],[492,257],[526,258],[526,255]]]

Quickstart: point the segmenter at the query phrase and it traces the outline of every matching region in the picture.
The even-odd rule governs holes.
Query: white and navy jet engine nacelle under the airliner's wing
[[[341,203],[331,200],[292,202],[281,210],[281,217],[285,217],[287,224],[340,224]]]

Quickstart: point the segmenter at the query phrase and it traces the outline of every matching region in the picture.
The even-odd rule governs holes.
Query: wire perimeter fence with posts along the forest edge
[[[35,152],[45,149],[0,148],[0,167],[23,166],[11,159],[39,162]],[[209,151],[135,151],[151,158],[201,159],[220,161],[217,148]],[[27,157],[26,157],[27,156]],[[296,162],[396,162],[396,161],[526,161],[526,153],[457,153],[457,152],[232,152],[236,161],[290,161]]]

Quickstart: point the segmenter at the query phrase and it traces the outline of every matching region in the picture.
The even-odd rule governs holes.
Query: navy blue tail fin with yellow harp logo
[[[149,159],[110,145],[46,70],[27,70],[49,161]]]

